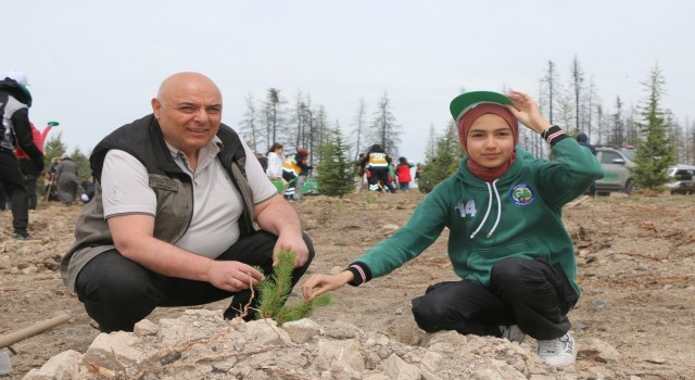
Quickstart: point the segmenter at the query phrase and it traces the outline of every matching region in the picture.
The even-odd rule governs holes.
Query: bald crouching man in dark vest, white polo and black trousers
[[[292,206],[220,124],[222,94],[210,78],[172,75],[151,104],[153,114],[94,148],[94,199],[61,264],[105,332],[130,331],[159,306],[230,296],[225,317],[244,316],[250,287],[271,273],[281,248],[296,252],[292,284],[314,257]],[[249,308],[244,319],[253,316]]]

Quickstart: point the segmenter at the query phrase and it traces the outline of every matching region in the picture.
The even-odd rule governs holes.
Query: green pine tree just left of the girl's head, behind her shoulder
[[[437,140],[437,152],[425,162],[417,187],[421,192],[430,192],[434,187],[458,170],[465,155],[458,142],[454,122],[446,126],[444,135]]]

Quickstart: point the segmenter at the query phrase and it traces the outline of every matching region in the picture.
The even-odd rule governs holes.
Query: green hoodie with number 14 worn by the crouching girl
[[[574,248],[561,208],[604,172],[573,139],[558,141],[552,151],[557,161],[538,160],[517,147],[514,164],[494,185],[473,176],[465,157],[458,172],[417,206],[405,227],[351,267],[358,266],[365,281],[388,275],[418,256],[447,227],[448,257],[460,278],[488,287],[492,267],[503,258],[544,258],[559,263],[579,294]],[[356,279],[353,284],[361,282]]]

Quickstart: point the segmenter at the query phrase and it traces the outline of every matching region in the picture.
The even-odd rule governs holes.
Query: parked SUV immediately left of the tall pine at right
[[[604,178],[596,180],[598,194],[607,194],[611,191],[622,191],[629,194],[639,188],[630,172],[631,167],[636,166],[632,161],[634,150],[596,145],[596,157],[605,172]]]

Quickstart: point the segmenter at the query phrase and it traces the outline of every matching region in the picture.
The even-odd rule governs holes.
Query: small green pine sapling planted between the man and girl
[[[292,305],[286,305],[292,291],[292,270],[294,270],[293,251],[282,250],[278,253],[278,265],[273,269],[273,275],[257,287],[258,309],[256,319],[270,318],[278,326],[308,317],[314,307],[330,304],[331,296],[321,294],[311,301],[301,301]]]

